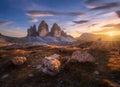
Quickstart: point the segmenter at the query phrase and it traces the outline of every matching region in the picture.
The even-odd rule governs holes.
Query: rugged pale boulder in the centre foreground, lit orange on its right
[[[59,55],[57,54],[45,57],[43,58],[41,64],[37,66],[37,69],[49,75],[56,75],[61,66],[61,62],[58,59]]]

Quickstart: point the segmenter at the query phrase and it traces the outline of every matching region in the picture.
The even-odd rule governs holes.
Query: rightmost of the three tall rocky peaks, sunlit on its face
[[[58,26],[58,24],[53,24],[50,35],[54,37],[61,37],[61,28]]]

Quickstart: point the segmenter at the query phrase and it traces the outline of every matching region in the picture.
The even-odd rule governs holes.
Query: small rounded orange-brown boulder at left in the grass
[[[27,61],[27,59],[26,57],[14,57],[12,58],[11,61],[14,65],[22,65],[23,63]]]

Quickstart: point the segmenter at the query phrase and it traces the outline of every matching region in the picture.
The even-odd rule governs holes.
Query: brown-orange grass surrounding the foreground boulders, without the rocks
[[[20,49],[0,50],[0,87],[112,87],[112,84],[120,84],[120,70],[112,70],[108,67],[110,62],[109,51],[91,50],[88,52],[95,57],[94,63],[69,62],[55,76],[49,76],[36,70],[36,66],[45,56],[54,53],[61,57],[71,56],[79,48],[37,46]],[[27,62],[21,66],[15,66],[10,59],[14,56],[25,56]],[[115,63],[112,61],[112,63]],[[119,66],[119,63],[117,63]],[[98,71],[99,74],[94,72]],[[5,79],[1,77],[9,76]],[[29,77],[33,74],[33,77]]]

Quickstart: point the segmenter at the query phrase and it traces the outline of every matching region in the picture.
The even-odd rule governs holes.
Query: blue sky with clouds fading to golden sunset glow
[[[45,20],[67,34],[120,34],[120,0],[1,0],[0,33],[24,37]]]

